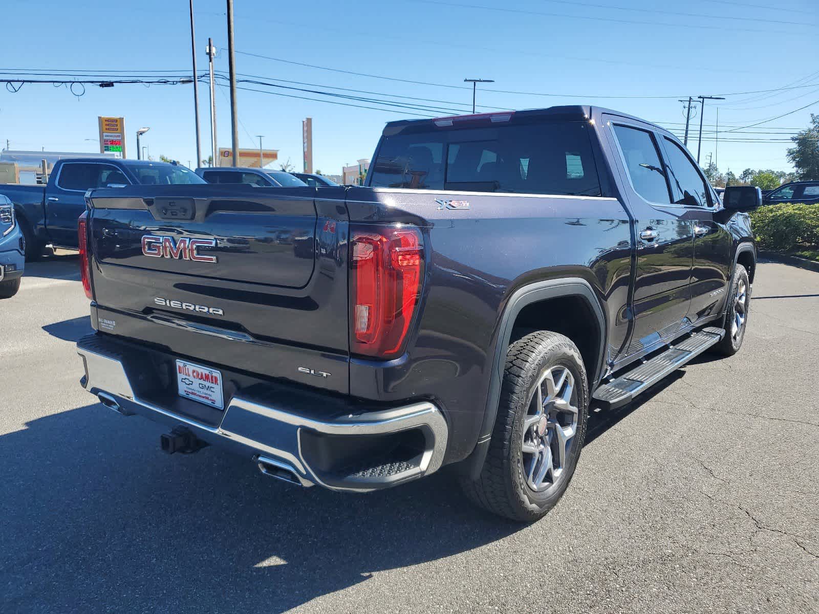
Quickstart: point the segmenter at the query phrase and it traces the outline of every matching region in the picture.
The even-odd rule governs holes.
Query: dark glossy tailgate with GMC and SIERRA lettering
[[[316,192],[93,192],[94,324],[202,363],[346,393],[345,191]]]

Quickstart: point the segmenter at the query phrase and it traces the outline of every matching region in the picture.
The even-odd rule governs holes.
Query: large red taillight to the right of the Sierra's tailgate
[[[395,357],[419,304],[423,237],[407,226],[358,226],[350,237],[351,350]]]

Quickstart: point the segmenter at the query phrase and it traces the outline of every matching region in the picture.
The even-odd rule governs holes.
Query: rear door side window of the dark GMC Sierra
[[[634,191],[646,201],[662,205],[671,203],[657,144],[646,130],[613,124],[622,157]]]

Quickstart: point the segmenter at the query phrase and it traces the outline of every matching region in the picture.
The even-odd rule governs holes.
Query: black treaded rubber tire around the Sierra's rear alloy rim
[[[523,422],[535,417],[531,413],[537,405],[533,395],[540,377],[547,371],[554,374],[563,370],[568,370],[573,378],[571,397],[578,410],[577,424],[570,440],[571,447],[564,454],[565,462],[559,469],[559,477],[555,477],[553,471],[551,485],[542,485],[545,490],[537,492],[527,481],[527,463],[533,468],[540,457],[537,454],[527,457],[533,453],[523,451],[524,440],[532,441],[539,428],[551,436],[550,441],[557,438],[554,427],[543,429],[541,422],[524,431]],[[561,386],[558,392],[561,390],[568,389]],[[586,368],[577,345],[568,337],[550,331],[532,332],[515,341],[506,355],[500,406],[486,462],[477,480],[462,479],[464,493],[489,512],[515,521],[533,522],[544,517],[563,495],[577,467],[586,440],[588,406]]]

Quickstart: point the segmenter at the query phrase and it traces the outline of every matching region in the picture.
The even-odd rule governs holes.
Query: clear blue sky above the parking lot
[[[3,70],[190,73],[185,0],[79,4],[11,0],[4,7]],[[216,69],[227,74],[225,2],[195,0],[194,5],[199,70],[206,70],[210,36],[219,48]],[[255,135],[263,134],[265,148],[278,149],[280,159],[289,158],[296,169],[301,169],[305,116],[313,117],[314,166],[339,174],[344,163],[372,155],[386,121],[413,113],[469,112],[472,92],[464,88],[464,78],[495,79],[485,88],[498,91],[478,92],[478,104],[486,107],[588,103],[672,129],[681,129],[685,121],[678,97],[731,94],[718,102],[718,151],[713,140],[717,104],[706,106],[704,122],[710,132],[702,162],[705,165],[711,154],[722,170],[736,173],[748,167],[790,169],[785,160],[789,143],[771,139],[787,138],[807,126],[811,111],[819,113],[819,15],[808,0],[781,0],[776,8],[764,7],[762,0],[313,0],[309,5],[236,0],[234,10],[239,73],[268,82],[280,79],[277,83],[288,88],[423,105],[383,111],[240,90],[239,146],[258,147]],[[293,89],[244,87],[383,107]],[[219,145],[229,147],[228,90],[217,89]],[[740,94],[773,89],[777,91]],[[206,84],[200,85],[199,94],[206,156]],[[11,149],[97,151],[97,115],[122,115],[129,157],[136,154],[135,130],[149,126],[143,145],[151,156],[164,154],[195,165],[192,97],[190,84],[87,86],[80,97],[51,84],[25,84],[16,93],[2,88],[0,147],[8,139]],[[812,102],[817,104],[781,119],[723,132]],[[694,137],[698,128],[699,115],[692,121]],[[689,147],[696,154],[696,141]]]

